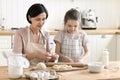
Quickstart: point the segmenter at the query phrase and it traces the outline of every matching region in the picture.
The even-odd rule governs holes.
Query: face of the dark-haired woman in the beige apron
[[[34,29],[36,30],[39,30],[42,28],[42,26],[44,25],[45,23],[45,20],[46,20],[46,13],[43,12],[41,14],[39,14],[38,16],[36,17],[32,17],[31,19],[31,25]]]

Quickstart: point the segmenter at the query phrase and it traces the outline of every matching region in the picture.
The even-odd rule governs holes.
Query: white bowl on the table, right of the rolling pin
[[[98,63],[91,63],[88,64],[88,69],[90,72],[102,72],[104,70],[104,65],[103,64],[98,64]]]

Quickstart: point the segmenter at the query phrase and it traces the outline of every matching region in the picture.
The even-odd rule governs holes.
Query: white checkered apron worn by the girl
[[[81,39],[63,39],[61,52],[75,61],[83,55]]]

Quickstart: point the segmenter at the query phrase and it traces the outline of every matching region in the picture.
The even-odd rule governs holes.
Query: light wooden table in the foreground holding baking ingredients
[[[0,80],[9,80],[7,66],[0,66]],[[25,69],[27,71],[28,69]],[[88,69],[59,72],[61,78],[59,80],[120,80],[120,62],[110,62],[109,68],[104,69],[101,73],[90,73]],[[29,80],[23,75],[22,79]]]

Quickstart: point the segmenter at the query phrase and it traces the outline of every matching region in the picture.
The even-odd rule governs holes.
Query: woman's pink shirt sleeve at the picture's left
[[[17,31],[14,36],[13,52],[23,53],[23,41],[21,34]]]

